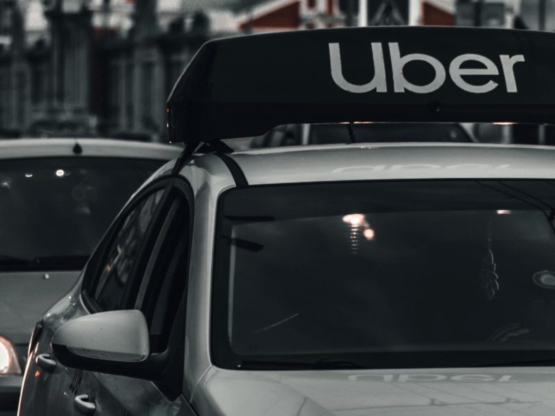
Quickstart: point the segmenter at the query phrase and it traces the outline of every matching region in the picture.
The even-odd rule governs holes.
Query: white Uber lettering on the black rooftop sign
[[[334,83],[345,91],[355,94],[363,94],[365,92],[387,92],[386,83],[386,62],[384,59],[384,49],[381,42],[372,42],[372,57],[374,62],[374,76],[366,84],[350,83],[343,76],[343,68],[341,66],[341,49],[339,43],[328,44],[330,49],[330,66],[332,69],[332,78]],[[441,88],[445,83],[447,74],[443,64],[432,55],[425,53],[409,53],[401,56],[398,42],[388,42],[389,56],[391,58],[391,72],[393,74],[393,90],[395,92],[415,92],[416,94],[428,94]],[[416,85],[405,78],[403,69],[409,62],[421,61],[429,64],[434,72],[431,82],[425,85]],[[472,62],[473,67],[468,67],[467,62]],[[515,79],[513,67],[518,62],[525,62],[524,55],[499,55],[499,64],[504,77],[504,86],[506,92],[518,92],[518,86]],[[492,79],[486,82],[471,83],[463,76],[498,76],[499,67],[497,64],[486,58],[484,55],[477,53],[463,53],[456,56],[449,64],[449,76],[453,83],[466,92],[474,94],[484,94],[497,88],[499,85]],[[468,79],[468,78],[467,78]]]

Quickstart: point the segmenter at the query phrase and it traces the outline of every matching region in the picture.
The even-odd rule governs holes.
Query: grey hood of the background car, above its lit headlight
[[[0,272],[0,335],[26,345],[43,313],[79,275],[80,271]]]

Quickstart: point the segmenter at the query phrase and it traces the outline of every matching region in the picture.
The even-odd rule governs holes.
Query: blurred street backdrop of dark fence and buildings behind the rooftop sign
[[[0,0],[0,137],[166,141],[207,40],[405,24],[553,31],[555,0]]]

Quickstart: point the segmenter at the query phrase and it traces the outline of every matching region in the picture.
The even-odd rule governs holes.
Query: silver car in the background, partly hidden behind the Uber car
[[[180,148],[108,139],[0,141],[0,411],[15,410],[28,340],[119,209]]]

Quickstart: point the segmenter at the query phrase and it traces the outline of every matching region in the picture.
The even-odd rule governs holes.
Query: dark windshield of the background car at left
[[[0,161],[0,271],[78,270],[131,193],[162,161]]]

